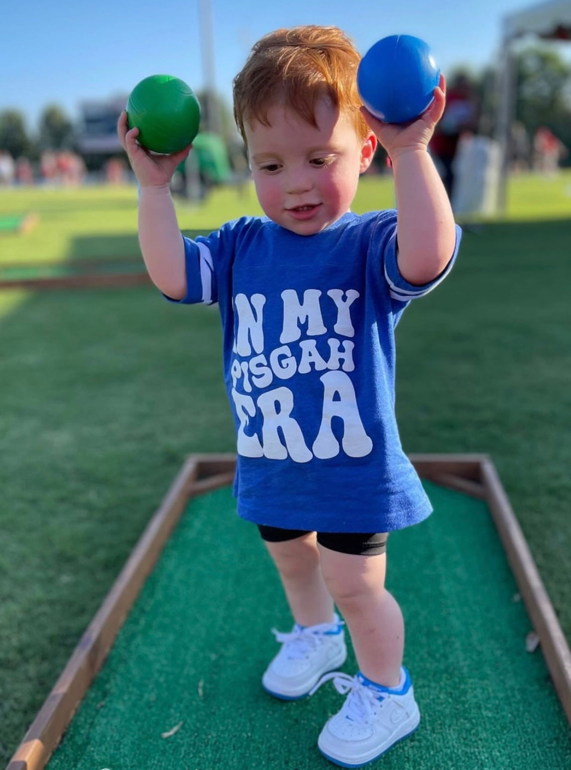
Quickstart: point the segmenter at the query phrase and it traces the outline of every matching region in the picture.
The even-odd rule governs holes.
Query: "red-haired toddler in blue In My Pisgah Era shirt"
[[[152,155],[119,119],[152,281],[169,300],[219,305],[238,513],[258,526],[294,621],[275,631],[282,646],[262,685],[295,700],[332,678],[346,700],[318,745],[344,767],[419,725],[386,541],[432,509],[396,427],[394,330],[449,272],[459,241],[427,151],[444,79],[419,119],[387,125],[359,99],[359,59],[334,27],[280,29],[254,45],[234,112],[265,216],[194,241],[169,192],[189,148]],[[378,142],[397,207],[360,216],[351,203]],[[346,660],[345,624],[355,676],[331,673]]]

